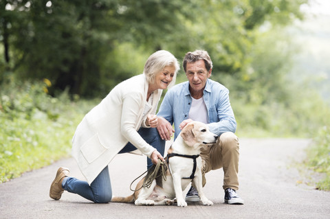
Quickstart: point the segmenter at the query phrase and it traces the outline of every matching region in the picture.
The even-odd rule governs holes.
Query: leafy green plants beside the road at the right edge
[[[330,191],[330,128],[320,128],[314,138],[314,145],[307,150],[307,167],[316,172],[325,173],[325,178],[317,182],[318,189]]]

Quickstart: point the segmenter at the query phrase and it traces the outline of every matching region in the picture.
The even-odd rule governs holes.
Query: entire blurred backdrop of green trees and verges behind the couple
[[[330,172],[329,11],[327,0],[0,0],[2,181],[69,156],[85,113],[159,49],[179,62],[208,51],[237,135],[314,139]]]

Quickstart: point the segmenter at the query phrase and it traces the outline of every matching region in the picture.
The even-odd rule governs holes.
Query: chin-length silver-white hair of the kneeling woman
[[[149,83],[155,82],[155,76],[157,73],[162,71],[164,67],[175,67],[175,72],[173,76],[172,82],[168,85],[168,87],[172,87],[175,84],[175,79],[177,78],[177,71],[180,69],[179,62],[177,58],[173,56],[169,51],[159,50],[149,56],[148,60],[146,60],[146,64],[144,65],[144,75]]]

